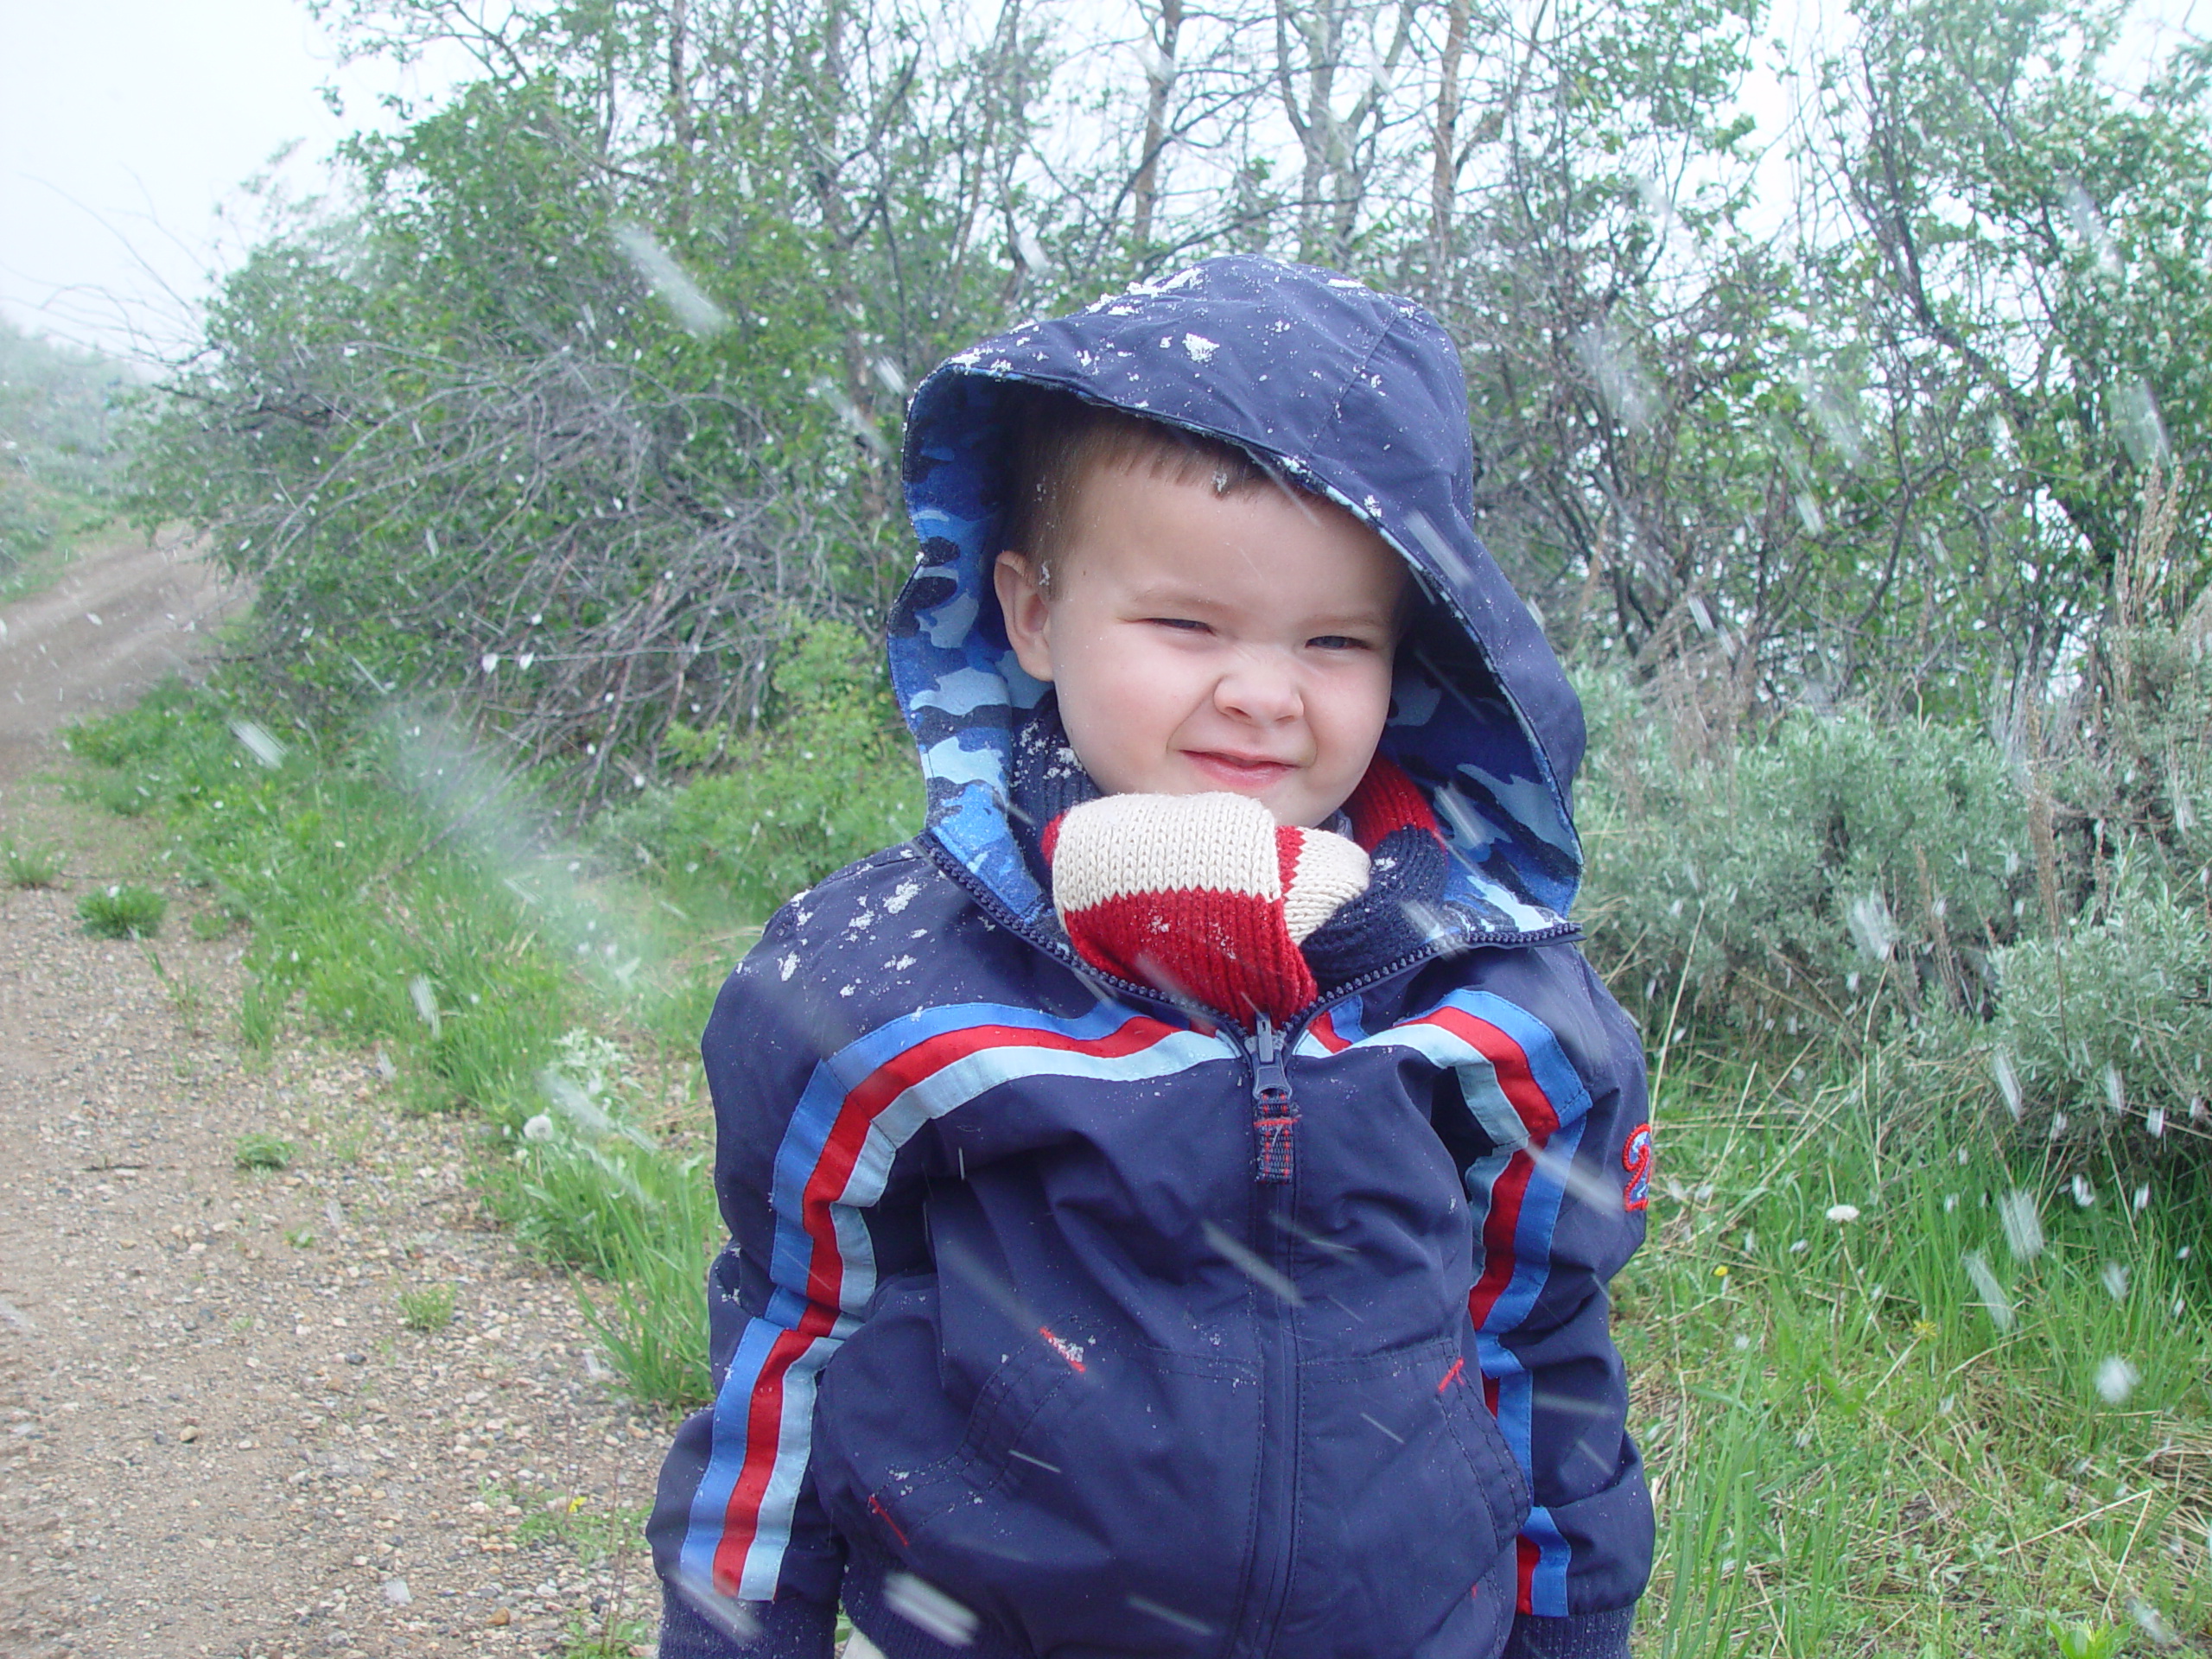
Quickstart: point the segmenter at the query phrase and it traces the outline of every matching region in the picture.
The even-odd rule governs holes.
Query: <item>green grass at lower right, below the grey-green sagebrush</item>
[[[2048,1659],[2053,1621],[2128,1652],[2212,1624],[2201,1228],[2112,1181],[2079,1208],[2044,1146],[1936,1110],[1962,1097],[1876,1053],[1659,1099],[1652,1234],[1615,1285],[1661,1511],[1639,1652]],[[2042,1250],[2015,1254],[2013,1194]]]

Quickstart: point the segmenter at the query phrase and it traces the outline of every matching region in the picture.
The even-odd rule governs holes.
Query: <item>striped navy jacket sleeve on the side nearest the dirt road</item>
[[[810,958],[787,907],[723,984],[701,1042],[730,1228],[708,1272],[714,1405],[677,1431],[646,1522],[661,1652],[684,1659],[830,1659],[836,1626],[845,1546],[816,1495],[814,1394],[867,1316],[865,1276],[841,1263],[885,1214],[843,1203],[841,1150],[854,1148],[838,1060],[858,1033]],[[801,960],[812,971],[794,975]]]

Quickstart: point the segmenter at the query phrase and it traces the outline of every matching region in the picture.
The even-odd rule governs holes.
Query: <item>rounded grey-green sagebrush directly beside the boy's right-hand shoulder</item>
[[[1681,761],[1615,677],[1584,688],[1584,920],[1648,1026],[1739,1033],[1882,1011],[1986,1013],[1991,951],[2033,902],[2026,801],[1975,730],[1790,714],[1725,763]]]

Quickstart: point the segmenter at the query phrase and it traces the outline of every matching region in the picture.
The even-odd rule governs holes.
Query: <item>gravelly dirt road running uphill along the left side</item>
[[[58,785],[60,723],[190,668],[228,602],[115,542],[0,608],[0,836],[64,860],[0,885],[0,1652],[586,1652],[655,1606],[664,1429],[484,1223],[471,1126],[403,1119],[369,1057],[241,1053],[243,938],[192,938],[157,836]],[[115,880],[168,891],[150,951],[77,927]],[[237,1168],[248,1133],[290,1166]],[[440,1287],[453,1323],[409,1329]]]

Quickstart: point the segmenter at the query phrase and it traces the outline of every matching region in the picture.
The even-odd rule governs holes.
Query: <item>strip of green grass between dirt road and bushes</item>
[[[250,922],[248,1044],[316,1031],[387,1055],[409,1106],[484,1117],[502,1155],[478,1183],[522,1243],[597,1281],[580,1294],[630,1394],[703,1400],[719,1223],[701,1161],[639,1126],[655,1102],[637,1073],[675,1055],[688,1075],[757,929],[726,907],[701,927],[701,907],[606,876],[431,721],[343,745],[283,730],[279,748],[272,728],[221,692],[164,686],[73,728],[80,792],[157,816],[215,914]],[[646,1062],[595,1029],[637,1033]],[[549,1068],[577,1110],[551,1106]],[[526,1139],[540,1115],[557,1135]]]

